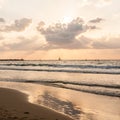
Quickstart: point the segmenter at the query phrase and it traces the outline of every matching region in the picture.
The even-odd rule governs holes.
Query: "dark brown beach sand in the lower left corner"
[[[28,102],[27,95],[0,88],[0,120],[72,120],[43,106]]]

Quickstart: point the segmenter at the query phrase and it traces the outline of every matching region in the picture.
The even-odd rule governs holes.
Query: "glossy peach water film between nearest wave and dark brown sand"
[[[32,103],[67,114],[75,120],[119,120],[120,98],[88,94],[33,83],[0,82],[4,88],[20,90]]]

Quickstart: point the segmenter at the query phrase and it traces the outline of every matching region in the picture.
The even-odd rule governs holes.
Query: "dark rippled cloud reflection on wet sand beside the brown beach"
[[[40,95],[37,101],[39,104],[67,114],[76,120],[80,119],[81,111],[70,101],[60,100],[45,91],[43,95]]]

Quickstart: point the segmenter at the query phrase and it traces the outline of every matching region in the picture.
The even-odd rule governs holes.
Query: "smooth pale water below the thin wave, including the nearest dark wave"
[[[76,91],[120,97],[120,75],[39,71],[0,71],[0,81],[44,84]]]

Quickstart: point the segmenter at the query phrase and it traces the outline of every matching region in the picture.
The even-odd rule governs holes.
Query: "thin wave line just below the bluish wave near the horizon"
[[[101,70],[86,70],[86,69],[32,69],[32,68],[6,68],[0,67],[0,70],[18,70],[18,71],[44,71],[44,72],[68,72],[68,73],[90,73],[90,74],[115,74],[119,75],[120,71],[101,71]]]

